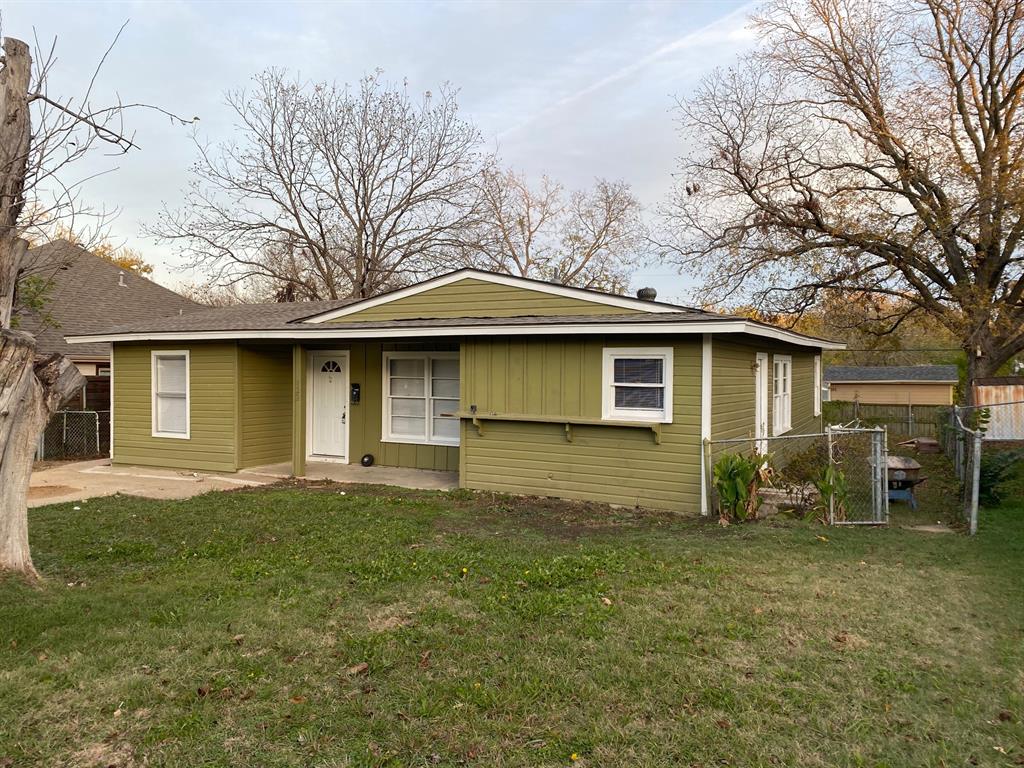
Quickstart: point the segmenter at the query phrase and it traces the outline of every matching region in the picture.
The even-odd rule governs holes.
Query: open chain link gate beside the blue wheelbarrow
[[[889,442],[885,427],[829,425],[829,525],[889,522]]]

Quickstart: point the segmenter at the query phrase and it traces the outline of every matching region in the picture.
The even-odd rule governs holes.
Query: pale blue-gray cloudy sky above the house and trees
[[[507,167],[569,188],[597,177],[629,182],[648,212],[666,200],[685,153],[675,104],[726,67],[753,37],[740,2],[0,2],[5,36],[43,47],[56,38],[50,95],[83,92],[118,29],[95,103],[119,96],[198,116],[204,140],[233,137],[224,92],[267,67],[311,81],[355,83],[382,70],[422,92],[449,82]],[[115,242],[141,250],[155,279],[177,287],[202,275],[142,232],[177,207],[195,159],[191,128],[154,113],[127,118],[141,147],[93,157],[83,199],[115,208]],[[672,266],[639,269],[684,300],[693,282]]]

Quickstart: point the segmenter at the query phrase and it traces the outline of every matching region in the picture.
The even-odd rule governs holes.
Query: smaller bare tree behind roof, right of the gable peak
[[[522,278],[622,293],[644,246],[640,203],[623,181],[597,179],[566,196],[513,171],[483,175],[484,215],[468,260]]]

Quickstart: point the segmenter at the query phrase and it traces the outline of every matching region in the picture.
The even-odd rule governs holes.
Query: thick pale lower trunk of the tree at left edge
[[[29,481],[36,441],[85,383],[59,354],[36,357],[27,333],[0,329],[0,568],[36,577],[29,551]]]

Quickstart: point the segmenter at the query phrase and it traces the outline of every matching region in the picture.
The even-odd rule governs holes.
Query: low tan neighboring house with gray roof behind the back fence
[[[830,400],[880,406],[951,406],[956,366],[829,366]]]

